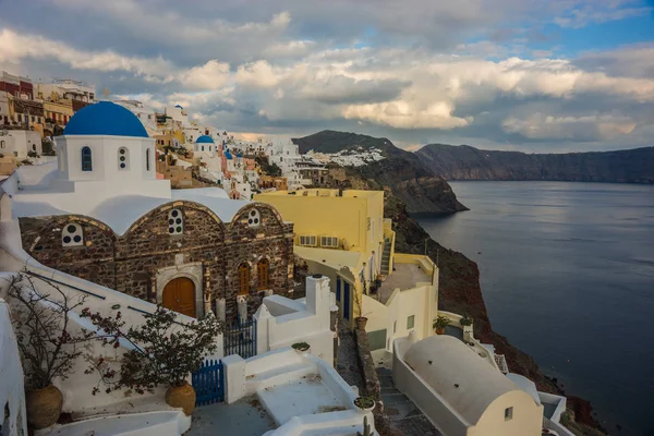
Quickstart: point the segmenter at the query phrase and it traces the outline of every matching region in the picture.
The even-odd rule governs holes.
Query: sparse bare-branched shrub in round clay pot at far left
[[[72,300],[49,284],[53,289],[49,294],[37,290],[27,275],[13,277],[9,284],[9,296],[17,303],[12,305],[13,320],[27,386],[27,422],[35,429],[59,420],[63,396],[52,380],[68,378],[83,353],[80,344],[94,337],[71,329],[71,312],[84,304],[84,298]]]

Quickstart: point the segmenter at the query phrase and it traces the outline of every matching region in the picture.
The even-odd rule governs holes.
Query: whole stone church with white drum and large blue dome
[[[57,138],[58,165],[21,168],[11,192],[21,242],[39,263],[189,316],[232,323],[293,288],[293,225],[217,187],[156,179],[155,140],[99,102]]]

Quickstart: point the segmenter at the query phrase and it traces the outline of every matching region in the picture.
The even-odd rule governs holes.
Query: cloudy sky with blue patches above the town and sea
[[[650,0],[0,0],[0,70],[244,134],[654,145]]]

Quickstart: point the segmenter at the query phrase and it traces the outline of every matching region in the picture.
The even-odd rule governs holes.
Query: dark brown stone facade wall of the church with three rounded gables
[[[168,232],[172,208],[182,211],[183,234]],[[258,227],[249,225],[253,209],[261,217]],[[83,227],[83,246],[62,246],[61,231],[71,222]],[[204,302],[196,303],[196,313],[225,306],[228,323],[237,319],[241,264],[246,263],[251,271],[250,293],[243,295],[249,315],[256,312],[265,291],[289,295],[293,287],[293,225],[261,203],[247,204],[225,223],[201,204],[172,202],[140,218],[123,235],[75,215],[20,218],[20,226],[23,249],[44,265],[152,303],[161,303],[162,280],[187,277],[201,292],[196,301]],[[257,264],[264,258],[269,265],[266,289],[257,276]]]

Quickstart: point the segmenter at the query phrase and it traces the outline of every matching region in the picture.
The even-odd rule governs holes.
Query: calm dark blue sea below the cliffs
[[[450,184],[471,210],[420,222],[479,264],[495,330],[611,435],[654,435],[654,186]]]

